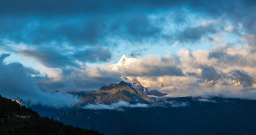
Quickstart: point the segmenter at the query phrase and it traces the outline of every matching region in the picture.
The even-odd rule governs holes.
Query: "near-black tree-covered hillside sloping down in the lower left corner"
[[[103,135],[64,125],[0,95],[0,135]]]

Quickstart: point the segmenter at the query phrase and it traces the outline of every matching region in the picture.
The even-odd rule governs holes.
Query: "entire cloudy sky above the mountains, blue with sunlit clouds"
[[[255,12],[253,0],[0,0],[0,94],[63,107],[134,77],[170,97],[256,99]]]

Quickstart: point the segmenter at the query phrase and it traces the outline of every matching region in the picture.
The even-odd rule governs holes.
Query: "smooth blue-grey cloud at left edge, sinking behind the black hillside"
[[[9,54],[2,54],[4,59]],[[26,105],[41,104],[50,107],[70,107],[77,97],[68,93],[42,92],[20,63],[0,64],[0,93],[6,98],[18,98]]]

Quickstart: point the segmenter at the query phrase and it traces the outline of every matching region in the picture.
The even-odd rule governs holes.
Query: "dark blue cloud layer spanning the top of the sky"
[[[241,23],[248,33],[255,26],[255,2],[250,0],[8,0],[0,3],[0,37],[27,45],[108,46],[112,45],[107,43],[108,37],[158,42],[170,40],[168,35],[172,35],[175,40],[196,42],[221,28],[213,24],[192,27],[187,23],[180,33],[166,35],[160,28],[165,17],[152,21],[149,16],[170,9],[175,24],[189,21],[184,9],[209,19],[225,15],[223,20],[228,19],[234,26]]]

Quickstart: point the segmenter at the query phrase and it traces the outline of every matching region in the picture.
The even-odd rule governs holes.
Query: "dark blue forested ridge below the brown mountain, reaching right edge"
[[[253,135],[256,101],[229,98],[172,98],[148,108],[90,110],[54,119],[111,135]]]

